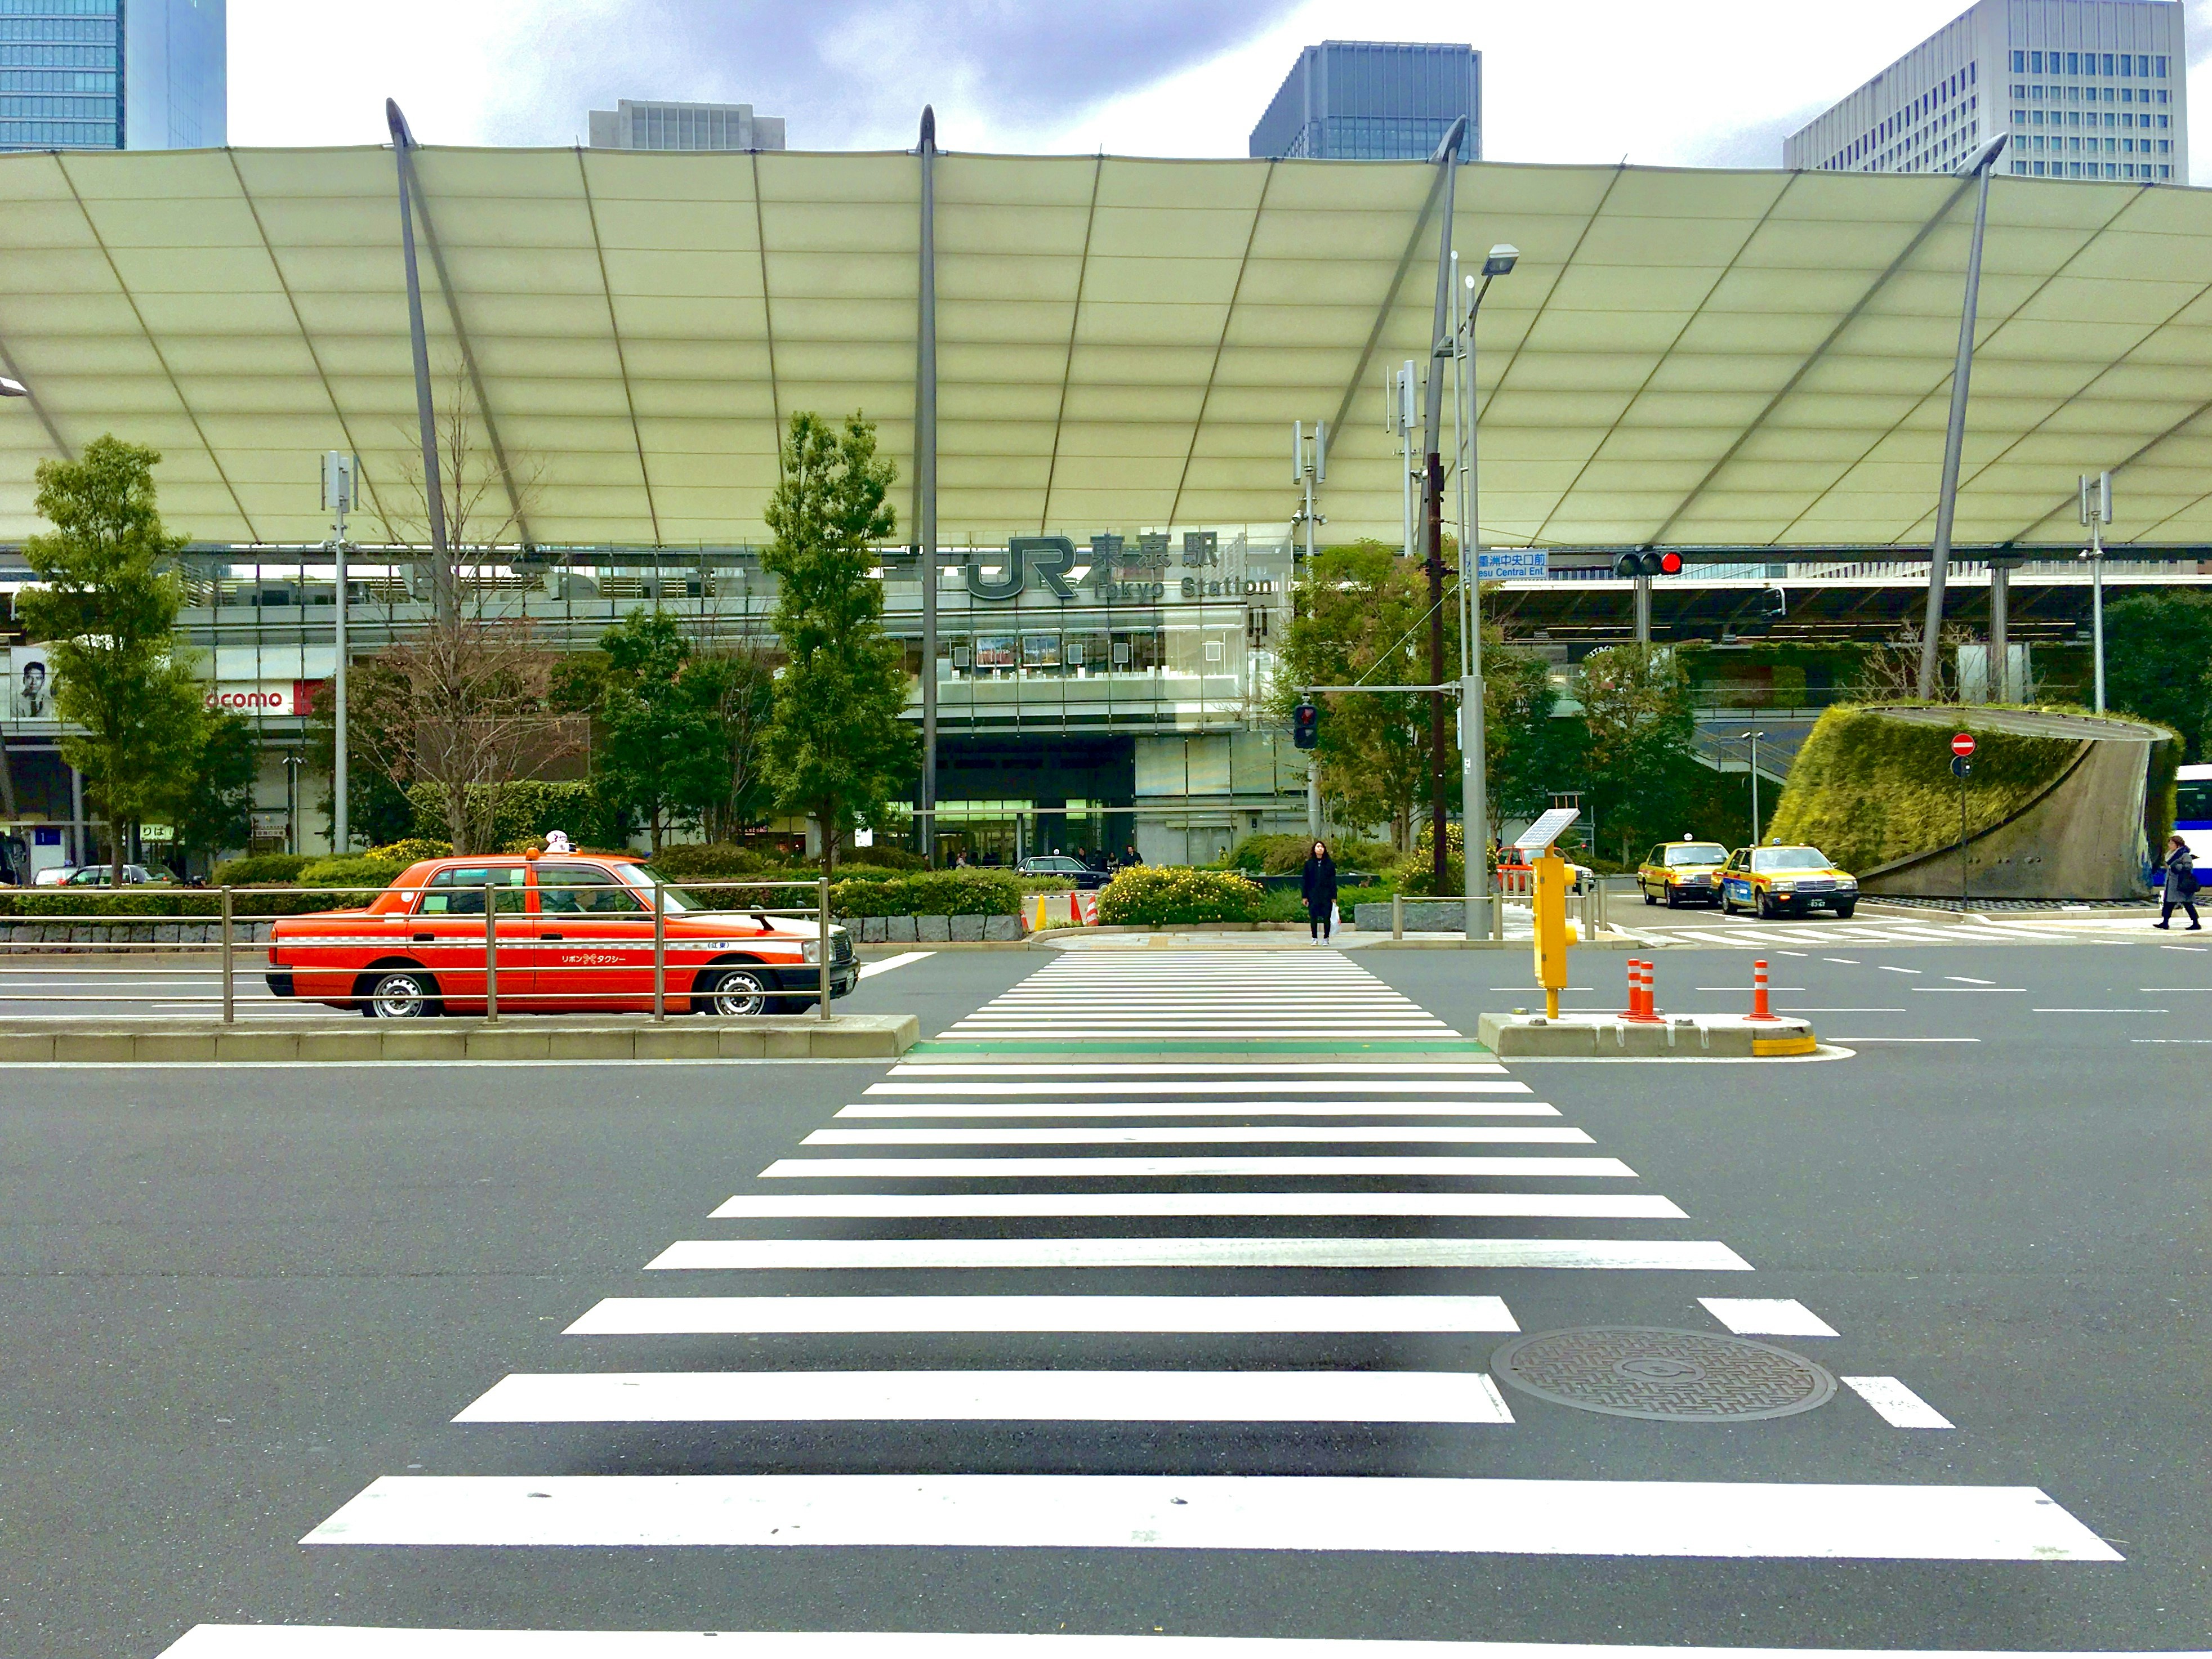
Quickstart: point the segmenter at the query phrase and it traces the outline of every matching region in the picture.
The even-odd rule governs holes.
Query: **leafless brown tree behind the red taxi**
[[[394,626],[396,641],[356,670],[347,728],[400,790],[440,787],[453,852],[484,852],[500,785],[582,752],[588,728],[553,708],[555,657],[522,608],[535,577],[515,571],[544,467],[491,453],[458,369],[438,416],[438,473],[445,557],[420,462],[376,513],[389,544],[420,549],[431,615]]]

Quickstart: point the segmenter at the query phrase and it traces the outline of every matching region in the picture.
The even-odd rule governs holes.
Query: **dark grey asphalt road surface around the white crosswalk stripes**
[[[1232,989],[1234,1020],[1254,1026],[1254,1053],[1358,1040],[1358,1020],[1332,1013],[1329,993],[1298,978],[1301,962],[1343,958],[1237,956],[1250,973]],[[1467,1033],[1480,1009],[1511,1006],[1526,987],[1520,951],[1349,960]],[[0,1104],[0,1272],[13,1314],[0,1347],[9,1400],[0,1652],[150,1657],[197,1624],[274,1621],[2212,1646],[2212,1491],[2201,1455],[2212,1433],[2203,1383],[2212,1150],[2201,1121],[2212,960],[2141,945],[1858,947],[1770,960],[1778,1006],[1812,1013],[1823,1037],[1854,1057],[1513,1068],[1533,1099],[1557,1106],[1548,1121],[1586,1130],[1588,1152],[1635,1170],[1610,1181],[757,1179],[841,1106],[863,1102],[860,1091],[885,1075],[880,1064],[13,1068]],[[1188,995],[1208,995],[1210,962],[1186,962],[1164,967],[1183,975]],[[1610,1006],[1621,958],[1588,951],[1575,962],[1586,969],[1575,982],[1590,991],[1568,1004]],[[1741,1006],[1747,962],[1745,951],[1666,951],[1659,1002]],[[867,980],[847,1006],[914,1009],[929,1033],[1046,967],[1062,962],[938,953]],[[1099,967],[1126,978],[1117,964]],[[1252,991],[1259,980],[1270,991]],[[1055,1040],[1104,1042],[1117,995],[1104,982],[1077,984],[1064,1015],[1024,1015],[1040,1022],[1040,1048],[1004,1053],[1013,1071],[1000,1075],[1035,1077]],[[978,1035],[991,1018],[969,1022],[971,1042],[993,1042]],[[1261,1035],[1270,1020],[1274,1035]],[[1168,1099],[1212,1106],[1221,1124],[1283,1117],[1239,1110],[1217,1091],[1219,1082],[1186,1075]],[[898,1155],[947,1150],[1048,1148]],[[732,1194],[792,1190],[1130,1197],[1531,1186],[1663,1194],[1686,1219],[710,1219]],[[1542,1237],[1593,1250],[1624,1237],[1694,1239],[1725,1245],[1756,1272],[646,1270],[675,1241],[1212,1234]],[[1701,1296],[1794,1298],[1838,1336],[1761,1340],[1838,1376],[1896,1378],[1955,1427],[1891,1427],[1851,1391],[1803,1416],[1692,1425],[1595,1416],[1511,1389],[1511,1425],[945,1422],[920,1411],[847,1422],[451,1420],[502,1378],[533,1374],[1480,1371],[1506,1340],[1219,1329],[562,1334],[602,1298],[949,1292],[1482,1294],[1502,1298],[1524,1332],[1719,1332]],[[1652,1557],[920,1542],[301,1546],[385,1478],[526,1475],[535,1486],[668,1473],[1436,1475],[1719,1482],[1725,1493],[1763,1482],[2039,1486],[2124,1559],[1686,1559],[1670,1553],[1679,1540],[1661,1540]],[[1818,1511],[1825,1500],[1807,1502]],[[1703,1524],[1699,1504],[1683,1502],[1683,1537]],[[1814,1524],[1825,1524],[1818,1513]]]

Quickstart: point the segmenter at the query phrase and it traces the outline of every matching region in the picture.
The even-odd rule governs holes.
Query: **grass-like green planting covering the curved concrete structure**
[[[1770,843],[1820,847],[1843,869],[1867,872],[1958,845],[1951,732],[1973,732],[1966,832],[2011,818],[2066,770],[2077,743],[1978,728],[1969,710],[1944,723],[1889,719],[1838,706],[1812,728],[1767,825]]]

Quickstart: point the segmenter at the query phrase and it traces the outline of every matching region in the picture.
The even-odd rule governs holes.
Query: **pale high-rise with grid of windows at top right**
[[[2188,184],[2181,0],[1980,0],[1783,146],[1820,173],[2000,173]]]

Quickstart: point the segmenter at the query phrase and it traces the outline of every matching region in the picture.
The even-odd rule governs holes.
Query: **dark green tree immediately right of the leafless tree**
[[[714,708],[692,672],[692,646],[666,611],[630,611],[599,635],[599,650],[597,787],[644,821],[659,856],[670,823],[697,816],[697,803],[719,794]]]

